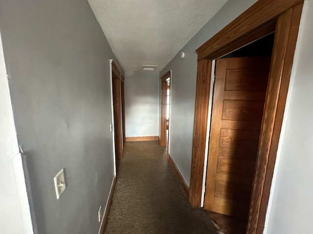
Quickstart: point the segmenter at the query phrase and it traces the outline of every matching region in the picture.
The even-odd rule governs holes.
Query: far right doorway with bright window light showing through
[[[160,118],[160,145],[166,146],[169,137],[170,125],[170,87],[171,71],[161,77],[161,118]]]

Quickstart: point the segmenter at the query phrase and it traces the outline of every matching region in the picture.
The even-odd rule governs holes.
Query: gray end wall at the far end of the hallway
[[[126,137],[158,136],[158,72],[125,73]]]

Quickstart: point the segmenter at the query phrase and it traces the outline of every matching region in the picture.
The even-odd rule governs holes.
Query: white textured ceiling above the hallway
[[[125,72],[160,71],[227,0],[88,0]]]

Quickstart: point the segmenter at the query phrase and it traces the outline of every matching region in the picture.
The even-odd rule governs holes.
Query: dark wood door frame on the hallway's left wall
[[[115,85],[115,80],[118,80]],[[122,136],[122,95],[121,95],[121,72],[119,71],[117,65],[112,61],[112,97],[113,97],[113,127],[114,127],[114,138],[115,140],[115,152],[118,153],[118,158],[123,156],[123,136]],[[118,98],[115,98],[114,94],[117,93]],[[119,108],[114,108],[118,104]],[[115,118],[119,119],[117,123]],[[115,153],[116,154],[116,153]]]

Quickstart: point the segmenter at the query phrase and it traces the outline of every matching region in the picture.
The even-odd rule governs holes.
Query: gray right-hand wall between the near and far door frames
[[[229,0],[201,30],[181,49],[160,72],[160,77],[172,69],[170,154],[184,177],[190,182],[192,137],[195,111],[197,53],[195,50],[234,20],[256,0]]]

